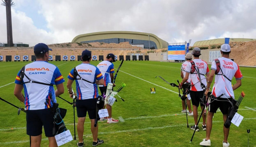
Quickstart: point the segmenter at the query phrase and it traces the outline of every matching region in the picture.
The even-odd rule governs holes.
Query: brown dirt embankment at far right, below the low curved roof
[[[216,44],[216,46],[221,44]],[[230,42],[230,58],[234,59],[238,65],[256,66],[256,41]],[[201,47],[201,46],[199,46]],[[211,48],[211,45],[205,47]]]

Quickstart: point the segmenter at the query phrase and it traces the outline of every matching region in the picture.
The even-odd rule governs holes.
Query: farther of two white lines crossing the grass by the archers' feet
[[[238,109],[238,111],[245,111],[245,110],[253,110],[256,111],[253,108],[246,107],[247,109]],[[220,112],[218,109],[217,112]],[[200,111],[199,111],[200,113]],[[176,115],[185,115],[186,113],[176,113]],[[165,116],[175,116],[175,114],[164,114],[164,115],[159,115],[159,116],[139,116],[139,117],[131,117],[131,118],[123,118],[122,116],[119,117],[120,122],[125,122],[125,120],[134,120],[134,119],[146,119],[146,118],[158,118],[158,117],[165,117]],[[99,121],[99,122],[104,122],[104,121]],[[91,122],[84,122],[84,124],[90,124]],[[77,123],[75,123],[77,125]],[[73,126],[74,124],[68,124],[68,122],[65,122],[66,126]],[[13,129],[26,129],[26,127],[13,127]],[[10,129],[0,129],[0,131],[8,131]]]

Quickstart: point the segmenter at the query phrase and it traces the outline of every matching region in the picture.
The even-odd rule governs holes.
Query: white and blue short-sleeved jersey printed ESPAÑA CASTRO
[[[22,84],[30,80],[51,84],[23,84],[26,110],[47,109],[45,103],[47,99],[49,99],[49,94],[51,94],[52,100],[56,103],[53,85],[59,85],[64,82],[63,76],[59,72],[59,68],[46,61],[35,61],[25,66],[24,73],[26,76],[20,81],[20,71],[18,72],[15,79],[16,84]]]

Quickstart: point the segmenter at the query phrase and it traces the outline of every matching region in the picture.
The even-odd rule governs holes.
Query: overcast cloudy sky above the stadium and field
[[[254,0],[13,0],[13,42],[71,42],[100,31],[152,33],[169,42],[256,38]],[[7,41],[0,6],[0,42]],[[244,36],[243,36],[244,35]]]

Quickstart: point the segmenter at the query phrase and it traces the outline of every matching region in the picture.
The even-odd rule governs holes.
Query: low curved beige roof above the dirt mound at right
[[[248,38],[230,38],[230,42],[246,42],[246,41],[254,41],[256,39],[248,39]],[[193,46],[204,46],[204,45],[212,45],[212,44],[224,44],[225,38],[219,39],[211,39],[211,40],[203,40],[197,41]]]

